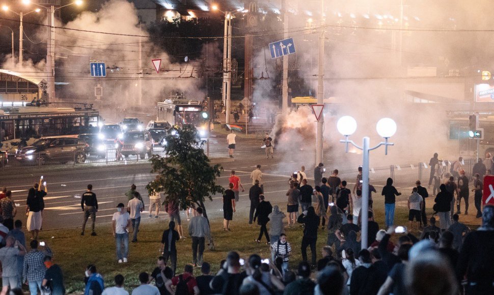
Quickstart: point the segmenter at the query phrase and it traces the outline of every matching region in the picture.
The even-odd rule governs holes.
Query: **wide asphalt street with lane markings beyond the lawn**
[[[306,174],[309,179],[313,175],[314,163],[313,154],[304,151],[297,151],[296,157],[286,157],[287,155],[275,154],[274,159],[266,159],[264,150],[260,147],[260,140],[241,139],[237,140],[237,149],[235,158],[228,158],[225,138],[215,138],[211,141],[211,157],[213,162],[221,162],[224,172],[218,179],[218,183],[225,188],[228,186],[228,178],[231,170],[236,170],[237,175],[245,188],[245,192],[240,194],[240,201],[237,209],[245,210],[250,202],[248,197],[249,188],[252,186],[250,174],[257,164],[262,165],[263,183],[266,199],[273,204],[280,204],[283,211],[286,210],[286,196],[288,189],[288,179],[295,170],[300,170],[302,165],[307,167]],[[283,156],[283,157],[282,157]],[[286,160],[290,159],[290,160]],[[338,168],[340,178],[347,180],[352,187],[353,180],[356,176],[354,167],[331,167],[331,159],[325,159],[327,170]],[[45,210],[43,213],[43,229],[56,229],[80,226],[83,219],[83,211],[80,207],[80,198],[78,196],[86,190],[88,184],[93,185],[93,192],[98,198],[99,210],[96,222],[111,222],[112,215],[115,213],[115,207],[119,202],[127,204],[125,192],[130,189],[132,184],[137,186],[141,192],[145,204],[149,204],[148,194],[145,190],[146,185],[154,179],[154,174],[150,173],[150,164],[140,161],[139,164],[129,161],[127,165],[105,166],[85,164],[84,166],[67,165],[66,169],[60,171],[48,171],[43,168],[25,167],[25,169],[13,169],[12,173],[4,171],[4,176],[0,178],[0,186],[7,186],[12,190],[15,203],[19,204],[16,219],[26,220],[25,200],[29,188],[39,181],[41,173],[44,173],[44,180],[48,185],[48,195],[45,197]],[[376,186],[380,195],[380,188],[385,184],[386,179],[390,176],[389,167],[373,169],[374,173],[370,174],[371,184]],[[403,190],[403,195],[398,198],[398,204],[406,206],[406,197],[411,186],[417,179],[417,169],[395,169],[395,179],[400,180],[396,185],[399,191]],[[325,175],[329,175],[326,172]],[[428,176],[428,174],[426,175]],[[428,179],[428,177],[425,177]],[[424,179],[425,179],[424,178]],[[425,182],[425,181],[424,181]],[[311,183],[310,183],[311,184]],[[313,183],[311,184],[313,185]],[[212,196],[212,201],[206,201],[206,208],[212,215],[220,213],[223,203],[221,195]],[[473,197],[471,198],[473,199]],[[474,212],[473,200],[471,200],[471,212]],[[432,202],[427,203],[432,206]],[[146,208],[148,210],[148,208]],[[143,214],[143,219],[148,219],[148,211]],[[185,218],[184,212],[181,213]],[[220,215],[218,215],[220,216]],[[160,212],[159,221],[167,220],[164,212]],[[89,228],[87,228],[87,231]]]

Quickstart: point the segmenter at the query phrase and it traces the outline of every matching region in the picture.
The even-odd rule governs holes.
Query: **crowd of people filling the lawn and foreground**
[[[434,167],[437,163],[432,164]],[[186,230],[191,238],[192,263],[177,272],[177,242],[185,236],[179,205],[165,199],[164,211],[170,220],[169,228],[163,231],[161,238],[162,254],[152,272],[139,274],[140,285],[133,289],[132,294],[492,294],[494,254],[490,250],[494,249],[494,206],[486,205],[483,211],[477,208],[477,217],[482,218],[478,230],[471,231],[461,223],[460,200],[465,200],[466,215],[469,192],[474,192],[476,205],[479,196],[482,197],[482,175],[476,173],[469,185],[463,167],[456,163],[453,166],[457,169],[453,171],[458,173],[441,173],[439,188],[431,194],[435,196],[432,215],[427,216],[425,211],[429,197],[427,188],[420,181],[416,182],[407,197],[408,228],[394,224],[396,197],[401,192],[393,186],[393,180],[389,178],[381,191],[385,201],[385,224],[382,227],[375,221],[373,209],[372,194],[377,190],[369,184],[368,245],[362,247],[359,240],[362,226],[361,167],[356,171],[350,189],[350,185],[339,178],[336,169],[327,178],[323,177],[326,170],[323,163],[319,163],[314,168],[312,181],[302,166],[288,181],[285,214],[284,208],[272,205],[264,195],[262,167],[257,165],[251,173],[251,205],[246,222],[257,223],[259,236],[254,242],[261,243],[264,237],[271,254],[264,259],[252,254],[244,260],[239,253],[229,252],[219,263],[220,270],[215,275],[211,274],[211,265],[204,259],[205,244],[211,233],[208,220],[202,216],[202,208],[191,210],[191,218],[187,215]],[[436,177],[434,172],[431,183],[436,181]],[[243,184],[236,172],[231,171],[229,189],[223,196],[225,231],[231,230],[230,222],[236,212],[240,190],[244,191]],[[53,253],[48,245],[37,240],[46,191],[46,184],[40,180],[28,192],[26,229],[32,234],[30,250],[26,247],[22,222],[13,222],[16,205],[11,192],[4,188],[0,193],[0,239],[5,245],[0,248],[2,294],[6,294],[9,288],[12,293],[21,293],[22,283],[29,285],[31,293],[38,290],[65,293],[62,269],[53,262]],[[129,238],[132,233],[131,242],[138,241],[141,213],[145,208],[135,185],[126,195],[128,204],[119,203],[112,218],[118,263],[128,262]],[[153,197],[150,217],[153,216],[153,207],[155,216],[161,208],[159,195]],[[92,235],[96,235],[94,221],[98,203],[92,185],[88,185],[81,196],[81,209],[84,212],[81,235],[85,234],[89,217]],[[436,226],[437,219],[440,226]],[[298,245],[289,242],[290,231],[287,230],[296,225],[303,227],[303,237]],[[325,234],[321,234],[320,229]],[[321,235],[326,241],[322,251],[316,249]],[[310,258],[307,248],[311,250]],[[322,257],[317,257],[318,251]],[[290,261],[295,252],[302,257],[299,263]],[[201,276],[194,276],[195,268],[200,268]],[[110,284],[115,286],[105,287],[104,277],[97,272],[96,265],[88,265],[85,294],[128,294],[122,275],[115,276]]]

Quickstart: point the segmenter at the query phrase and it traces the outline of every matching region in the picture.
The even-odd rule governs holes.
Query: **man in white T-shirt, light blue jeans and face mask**
[[[114,213],[112,217],[112,230],[117,245],[118,263],[127,262],[127,255],[129,252],[130,215],[124,208],[125,205],[119,203],[117,205],[117,212]]]

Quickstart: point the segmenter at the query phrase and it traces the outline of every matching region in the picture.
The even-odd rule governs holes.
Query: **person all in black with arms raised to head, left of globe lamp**
[[[304,237],[302,238],[301,253],[302,260],[307,261],[307,247],[311,247],[312,252],[312,268],[316,267],[316,242],[317,242],[317,228],[319,226],[319,216],[316,215],[314,207],[310,206],[307,211],[302,212],[302,214],[297,219],[298,223],[303,223]]]

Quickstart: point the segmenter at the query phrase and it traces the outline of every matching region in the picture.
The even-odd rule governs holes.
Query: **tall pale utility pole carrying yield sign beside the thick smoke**
[[[317,104],[324,104],[324,0],[321,0],[321,24],[319,33],[319,58],[318,58],[318,74],[317,74]],[[316,140],[316,163],[322,163],[322,130],[324,126],[324,109],[317,121],[317,140]]]

